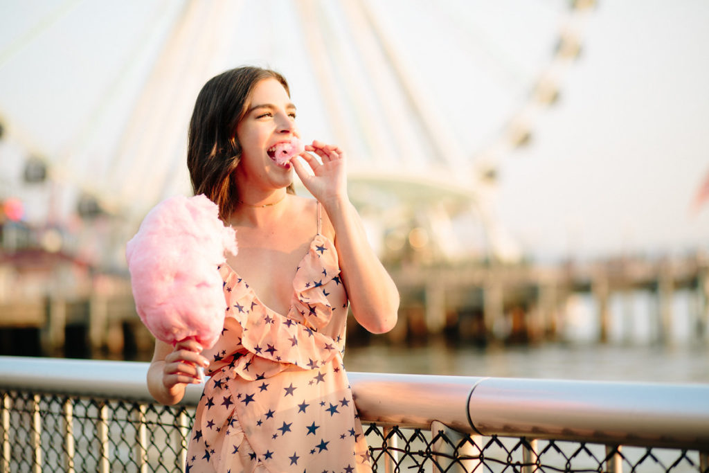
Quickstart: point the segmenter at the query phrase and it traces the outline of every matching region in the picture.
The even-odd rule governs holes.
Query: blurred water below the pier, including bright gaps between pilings
[[[607,344],[598,343],[598,306],[586,293],[562,308],[562,343],[479,348],[441,339],[405,347],[374,337],[368,347],[348,346],[345,366],[351,372],[709,383],[709,338],[697,335],[698,294],[675,291],[668,333],[661,333],[655,298],[650,291],[613,294]]]

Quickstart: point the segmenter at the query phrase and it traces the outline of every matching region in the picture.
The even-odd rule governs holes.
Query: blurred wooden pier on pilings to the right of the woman
[[[709,325],[709,258],[703,253],[557,266],[402,266],[390,272],[402,294],[397,338],[423,338],[447,330],[479,343],[500,338],[558,340],[566,302],[579,293],[596,300],[601,343],[609,340],[611,297],[633,291],[654,296],[655,310],[647,314],[657,326],[654,341],[669,341],[672,301],[679,290],[693,294],[691,316],[697,340],[705,338]],[[500,325],[509,326],[505,335],[496,330]]]

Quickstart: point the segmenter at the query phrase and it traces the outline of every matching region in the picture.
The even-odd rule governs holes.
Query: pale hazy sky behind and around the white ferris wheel
[[[406,77],[430,113],[423,120],[469,156],[498,140],[528,100],[552,59],[568,4],[365,3],[398,48]],[[232,5],[236,19],[222,19],[223,28],[213,28],[223,31],[225,60],[191,67],[161,111],[182,120],[169,128],[177,130],[174,143],[184,142],[181,130],[197,92],[185,85],[187,79],[201,84],[224,65],[246,62],[284,72],[301,128],[335,139],[327,119],[335,107],[319,97],[317,68],[301,51],[312,23],[303,24],[288,1]],[[135,109],[161,40],[181,8],[180,2],[160,0],[0,0],[0,118],[24,147],[0,156],[0,170],[18,172],[23,153],[35,152],[63,163],[68,183],[110,174],[106,156],[121,147],[125,117]],[[335,83],[346,89],[336,98],[354,136],[348,148],[352,160],[374,172],[415,165],[417,150],[416,156],[426,156],[415,141],[415,124],[402,131],[410,137],[404,141],[413,143],[411,155],[383,160],[369,154],[371,143],[357,140],[369,130],[386,145],[393,122],[403,116],[405,98],[394,97],[401,92],[383,67],[357,62],[352,44],[364,37],[348,30],[354,28],[352,16],[332,4],[318,14],[308,21],[318,21],[329,35],[325,39],[340,45],[330,60],[336,62]],[[557,77],[559,100],[535,113],[529,144],[495,160],[494,214],[525,255],[558,259],[709,250],[709,204],[690,211],[709,176],[708,24],[709,4],[702,0],[598,1],[584,17],[577,30],[581,55]],[[196,41],[185,44],[191,43]],[[187,49],[186,57],[203,54]],[[382,105],[372,92],[381,84],[389,84],[384,90],[391,91],[391,104]],[[171,149],[180,155],[178,145]],[[422,169],[424,175],[432,172]],[[454,165],[448,170],[452,177],[466,172]],[[184,174],[179,177],[184,180]],[[7,176],[0,185],[6,192],[13,187]]]

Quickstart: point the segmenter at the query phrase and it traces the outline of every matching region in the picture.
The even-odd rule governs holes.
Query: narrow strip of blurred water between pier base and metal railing
[[[578,379],[618,382],[709,383],[709,347],[564,345],[348,347],[350,372]]]

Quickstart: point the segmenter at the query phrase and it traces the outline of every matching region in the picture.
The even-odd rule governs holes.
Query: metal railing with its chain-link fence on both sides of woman
[[[201,386],[0,357],[0,472],[181,472]],[[376,471],[709,472],[709,385],[350,373]]]

